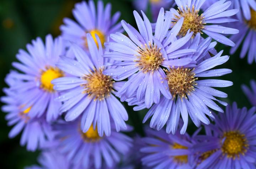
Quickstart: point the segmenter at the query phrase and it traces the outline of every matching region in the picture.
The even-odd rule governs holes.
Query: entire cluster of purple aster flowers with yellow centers
[[[20,49],[1,101],[14,125],[9,137],[22,132],[22,146],[42,151],[40,166],[27,168],[256,168],[255,107],[228,105],[215,89],[233,85],[218,79],[232,72],[215,68],[229,60],[218,43],[233,54],[245,39],[241,57],[256,58],[256,1],[137,5],[150,5],[153,23],[134,11],[133,27],[111,15],[111,4],[83,1],[60,36]],[[255,106],[255,81],[251,87],[242,90]],[[141,123],[151,118],[145,137],[127,134],[127,104],[147,111]],[[190,120],[198,127],[192,135]]]

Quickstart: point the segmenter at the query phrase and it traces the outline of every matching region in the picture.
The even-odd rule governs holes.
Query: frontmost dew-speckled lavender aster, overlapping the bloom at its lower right
[[[176,39],[183,19],[180,19],[168,33],[171,14],[168,13],[164,17],[164,8],[161,8],[153,35],[152,27],[144,12],[142,12],[144,21],[138,12],[133,13],[139,32],[125,21],[121,21],[129,37],[121,33],[110,35],[114,42],[106,42],[105,46],[112,51],[105,52],[103,57],[117,62],[111,65],[116,67],[104,70],[103,74],[112,75],[117,81],[128,77],[128,81],[118,91],[117,96],[121,97],[121,101],[135,96],[139,101],[145,101],[146,107],[149,108],[153,103],[159,103],[161,93],[166,98],[171,98],[167,91],[167,82],[162,80],[166,75],[161,66],[178,68],[187,65],[191,62],[191,58],[182,56],[195,50],[180,49],[188,42],[192,33]]]

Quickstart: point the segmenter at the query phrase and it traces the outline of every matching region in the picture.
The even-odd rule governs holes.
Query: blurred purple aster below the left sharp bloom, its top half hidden
[[[97,127],[92,125],[83,133],[80,120],[58,124],[55,131],[60,140],[60,152],[65,153],[73,165],[82,168],[101,168],[103,163],[112,167],[120,161],[120,155],[125,155],[132,146],[132,139],[112,130],[110,136],[100,137]]]

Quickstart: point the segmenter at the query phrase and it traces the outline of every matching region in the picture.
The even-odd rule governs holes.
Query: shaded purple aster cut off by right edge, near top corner
[[[244,58],[246,54],[247,62],[252,64],[256,62],[256,11],[251,9],[251,19],[246,21],[245,19],[236,23],[229,23],[232,28],[237,28],[240,33],[230,36],[230,40],[236,43],[236,46],[231,48],[230,54],[234,54],[238,47],[241,45],[240,58]]]

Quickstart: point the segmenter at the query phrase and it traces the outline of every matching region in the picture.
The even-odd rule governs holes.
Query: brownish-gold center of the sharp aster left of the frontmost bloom
[[[110,96],[114,81],[110,76],[102,74],[103,69],[91,71],[91,74],[83,77],[87,83],[81,86],[85,88],[83,93],[87,93],[89,96],[94,97],[95,100],[103,100],[105,97]]]

